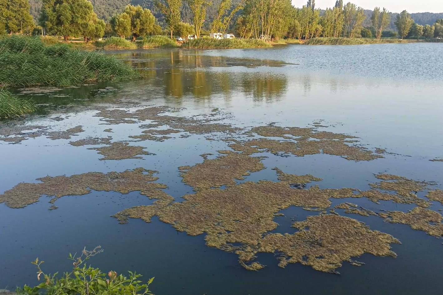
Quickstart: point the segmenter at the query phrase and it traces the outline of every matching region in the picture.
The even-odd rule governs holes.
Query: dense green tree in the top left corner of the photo
[[[35,27],[28,0],[0,0],[0,27],[8,33],[30,34]]]

